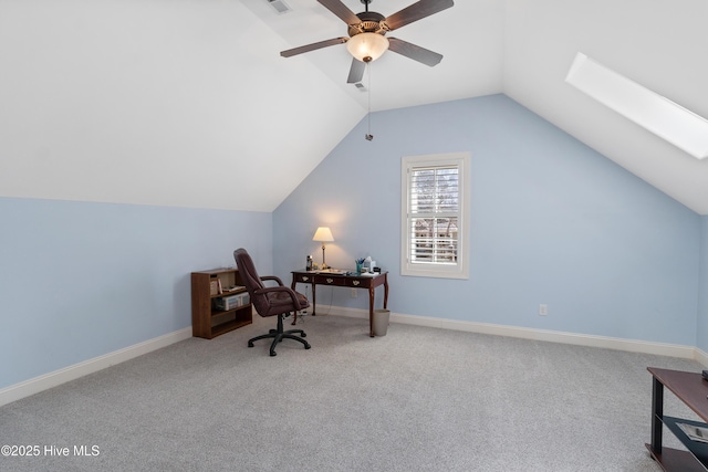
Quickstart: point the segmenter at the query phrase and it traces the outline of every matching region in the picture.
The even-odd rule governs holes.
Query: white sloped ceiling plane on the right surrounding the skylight
[[[577,51],[708,117],[708,2],[510,0],[503,91],[700,214],[699,161],[564,83]]]

